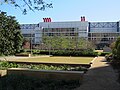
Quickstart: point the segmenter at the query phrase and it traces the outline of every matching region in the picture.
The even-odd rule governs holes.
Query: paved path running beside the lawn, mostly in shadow
[[[74,90],[120,90],[120,84],[117,74],[105,58],[98,57],[85,74],[82,85]]]

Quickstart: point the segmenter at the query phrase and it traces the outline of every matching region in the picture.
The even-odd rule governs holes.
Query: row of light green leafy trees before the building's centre
[[[94,49],[94,45],[84,38],[70,36],[43,36],[43,43],[51,50]]]

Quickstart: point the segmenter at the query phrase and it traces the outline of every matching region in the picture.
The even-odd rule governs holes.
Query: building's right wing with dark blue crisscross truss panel
[[[120,36],[119,22],[89,22],[88,40],[98,48],[109,46]]]

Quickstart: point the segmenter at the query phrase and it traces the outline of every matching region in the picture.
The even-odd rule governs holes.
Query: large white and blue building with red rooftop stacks
[[[42,37],[70,36],[85,38],[103,48],[114,42],[120,35],[120,22],[88,22],[85,17],[80,21],[52,22],[51,18],[43,18],[38,24],[21,24],[24,37],[30,38],[32,44],[42,43]]]

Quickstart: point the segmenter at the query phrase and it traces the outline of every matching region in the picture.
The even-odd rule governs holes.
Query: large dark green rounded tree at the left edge
[[[22,41],[20,25],[15,17],[0,12],[0,54],[11,55],[19,52]]]

